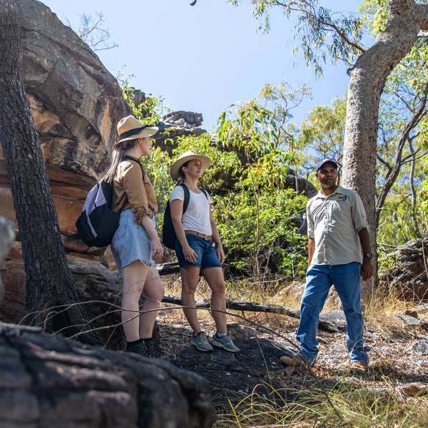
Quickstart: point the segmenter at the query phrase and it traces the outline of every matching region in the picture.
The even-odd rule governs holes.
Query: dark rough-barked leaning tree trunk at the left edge
[[[0,2],[0,100],[0,141],[24,256],[27,306],[36,312],[81,302],[68,270],[39,137],[25,96],[21,27],[14,0]],[[56,331],[82,325],[84,319],[83,310],[76,306],[51,314],[46,327]]]

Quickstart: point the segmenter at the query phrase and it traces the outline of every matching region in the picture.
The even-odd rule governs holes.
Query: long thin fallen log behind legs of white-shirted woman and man
[[[163,303],[172,303],[173,305],[181,305],[181,299],[178,296],[166,295],[162,299]],[[210,302],[206,300],[198,300],[196,307],[209,308]],[[280,305],[261,305],[260,303],[254,302],[243,302],[240,300],[226,300],[226,307],[230,310],[241,310],[249,312],[270,312],[279,315],[287,315],[287,317],[300,319],[300,311],[292,309],[291,307],[285,307]],[[318,322],[320,330],[329,333],[337,333],[346,331],[346,324],[341,320],[332,321],[324,319],[322,316]]]

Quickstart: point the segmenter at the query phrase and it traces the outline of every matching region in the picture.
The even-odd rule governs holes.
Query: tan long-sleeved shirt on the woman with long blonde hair
[[[151,217],[158,212],[158,201],[148,175],[136,161],[119,163],[113,180],[112,209],[117,213],[132,208],[137,223],[142,224],[145,215]]]

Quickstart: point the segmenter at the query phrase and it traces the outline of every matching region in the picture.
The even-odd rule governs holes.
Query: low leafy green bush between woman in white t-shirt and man
[[[253,273],[259,266],[262,272],[270,267],[290,277],[304,275],[306,238],[297,233],[294,218],[306,202],[295,190],[275,188],[215,198],[215,217],[225,248],[238,255],[230,264]]]

